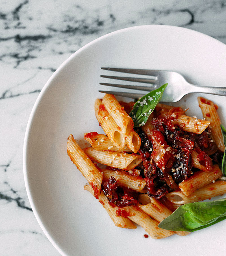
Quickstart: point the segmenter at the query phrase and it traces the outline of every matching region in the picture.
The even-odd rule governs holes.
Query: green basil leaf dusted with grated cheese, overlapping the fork
[[[129,115],[132,117],[134,127],[143,126],[156,105],[162,98],[162,94],[167,84],[163,84],[160,88],[149,92],[138,100]]]

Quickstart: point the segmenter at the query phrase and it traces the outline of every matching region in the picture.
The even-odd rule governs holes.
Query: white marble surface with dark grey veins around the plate
[[[88,42],[144,24],[182,26],[226,43],[226,1],[0,0],[0,255],[59,255],[23,179],[25,129],[45,82]]]

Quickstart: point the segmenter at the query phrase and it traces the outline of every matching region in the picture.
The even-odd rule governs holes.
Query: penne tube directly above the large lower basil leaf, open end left
[[[218,180],[202,187],[189,196],[184,195],[181,191],[174,191],[166,194],[166,198],[173,204],[187,204],[210,199],[214,196],[223,195],[225,193],[226,181]]]

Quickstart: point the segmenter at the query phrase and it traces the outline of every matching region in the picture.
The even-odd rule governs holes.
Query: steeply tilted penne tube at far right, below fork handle
[[[225,145],[223,141],[223,135],[221,133],[221,121],[217,113],[214,103],[203,97],[198,97],[199,107],[203,113],[203,117],[210,122],[211,134],[210,136],[215,141],[218,149],[222,152],[225,150]]]

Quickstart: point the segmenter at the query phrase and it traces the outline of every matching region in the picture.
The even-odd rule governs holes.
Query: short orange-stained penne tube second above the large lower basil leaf
[[[222,176],[222,172],[218,164],[214,164],[213,170],[210,172],[195,172],[191,177],[179,183],[179,188],[186,196],[194,193],[196,190],[206,186]]]

